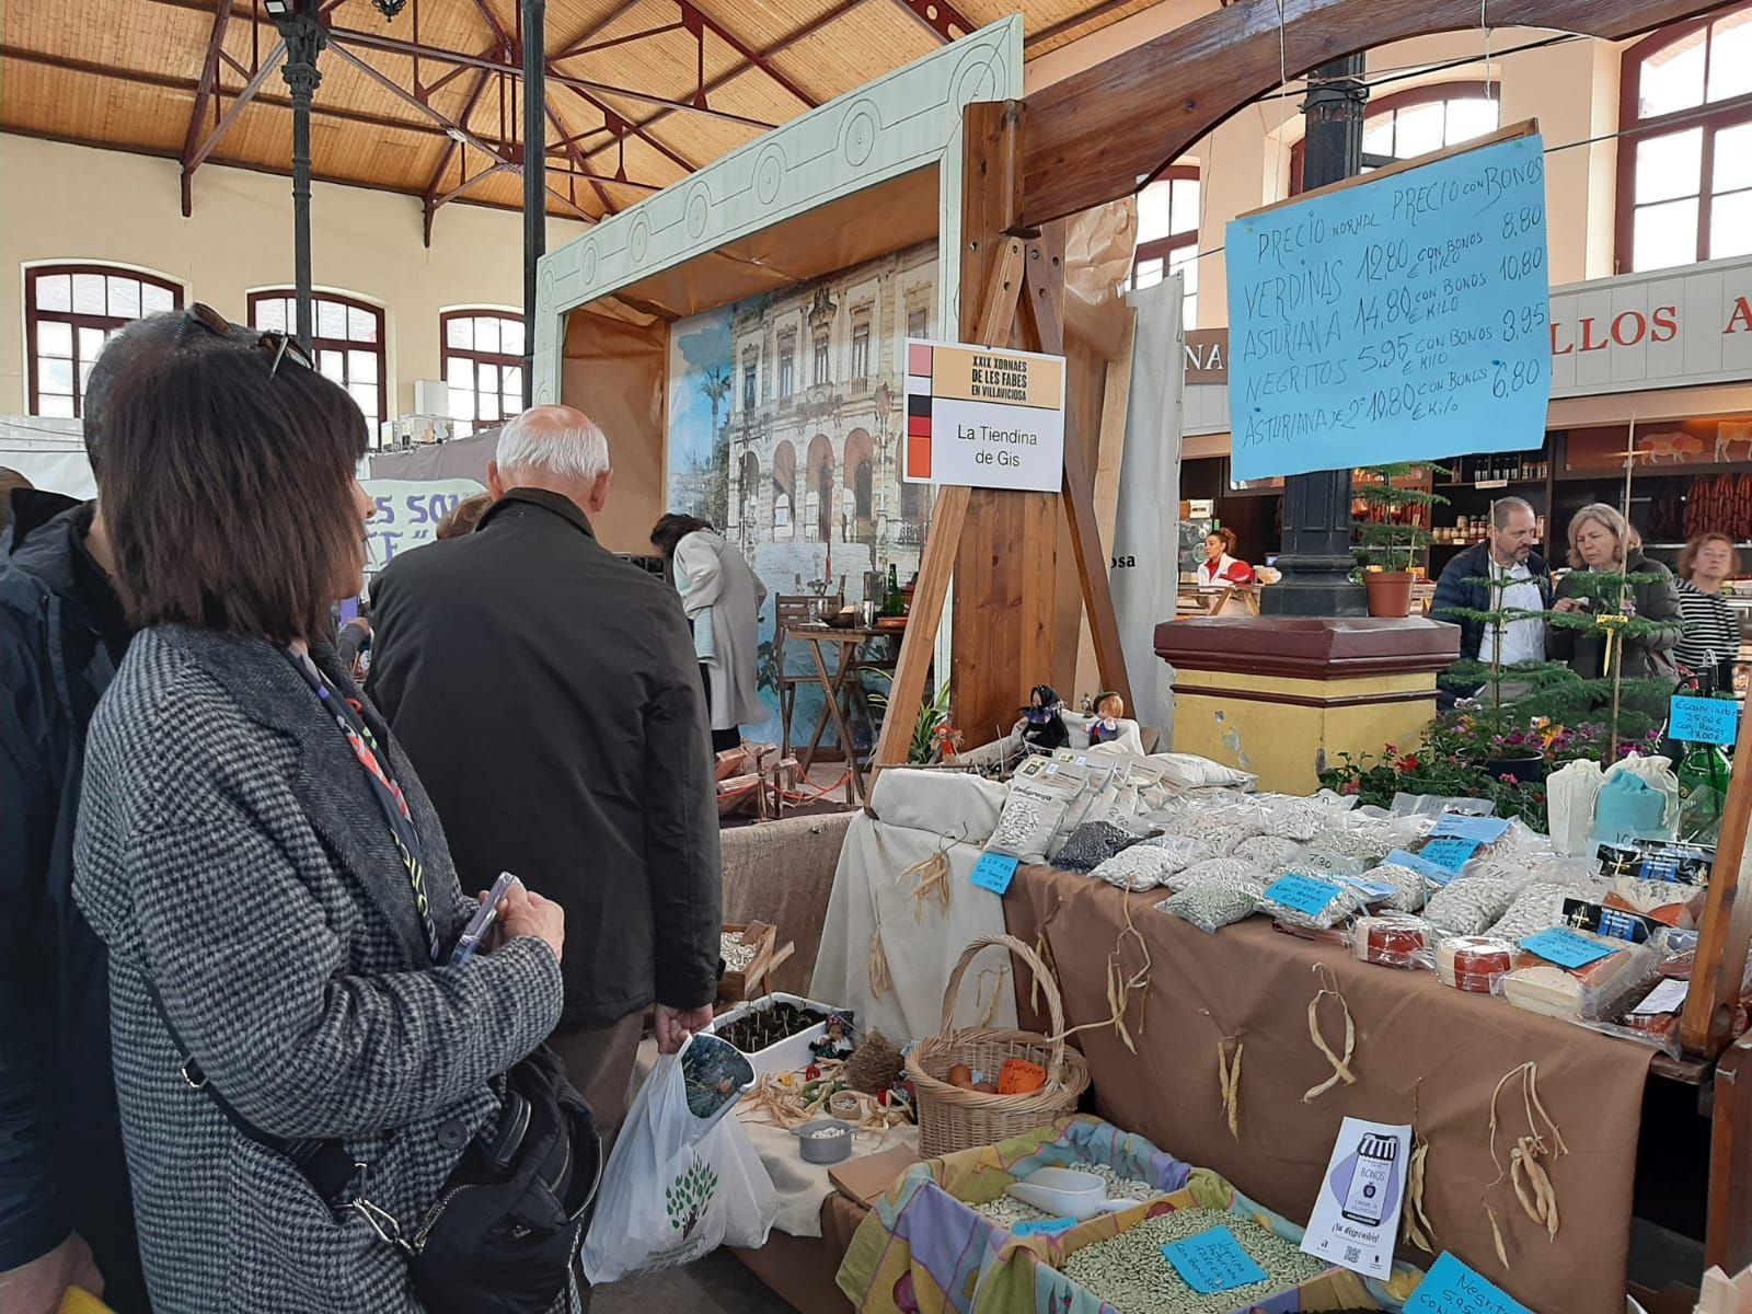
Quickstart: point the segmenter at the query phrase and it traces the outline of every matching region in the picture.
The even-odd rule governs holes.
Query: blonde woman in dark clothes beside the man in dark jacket
[[[1673,646],[1680,634],[1678,592],[1673,573],[1643,555],[1642,534],[1603,501],[1589,503],[1570,519],[1570,566],[1558,585],[1554,615],[1593,611],[1594,615],[1631,615],[1666,624],[1652,634],[1626,638],[1622,673],[1628,680],[1673,675]],[[1612,585],[1601,575],[1652,576],[1642,583]],[[1607,675],[1605,631],[1575,631],[1552,625],[1545,641],[1552,659],[1568,662],[1584,680]]]

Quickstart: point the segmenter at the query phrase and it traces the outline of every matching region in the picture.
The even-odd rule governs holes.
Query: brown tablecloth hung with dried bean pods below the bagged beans
[[[1360,964],[1349,951],[1272,930],[1265,918],[1216,936],[1156,911],[1165,892],[1123,895],[1086,876],[1025,867],[1004,899],[1009,934],[1034,944],[1042,922],[1065,990],[1070,1025],[1109,1014],[1107,957],[1125,929],[1125,902],[1149,946],[1142,1023],[1134,997],[1128,1025],[1139,1053],[1111,1027],[1081,1032],[1095,1107],[1162,1149],[1228,1177],[1242,1193],[1293,1219],[1314,1207],[1342,1116],[1412,1123],[1430,1141],[1424,1205],[1437,1249],[1451,1249],[1537,1314],[1615,1314],[1624,1309],[1631,1186],[1650,1049],[1540,1018],[1505,1000],[1451,990],[1431,972]],[[1139,964],[1135,941],[1125,971]],[[1302,1095],[1332,1074],[1309,1039],[1307,1006],[1319,990],[1316,964],[1339,978],[1356,1021],[1354,1086],[1314,1104]],[[1016,1007],[1028,1018],[1027,969],[1016,972]],[[1321,1006],[1326,1042],[1344,1051],[1344,1014]],[[1240,1141],[1218,1093],[1218,1041],[1246,1042]],[[1549,1163],[1561,1228],[1549,1242],[1507,1181],[1489,1193],[1512,1268],[1491,1246],[1486,1188],[1491,1091],[1517,1063],[1538,1063],[1538,1093],[1563,1128],[1570,1155]],[[1416,1109],[1416,1120],[1414,1120]],[[1498,1151],[1526,1130],[1519,1081],[1498,1100]],[[1507,1132],[1507,1135],[1503,1135]],[[1428,1267],[1431,1256],[1402,1251]]]

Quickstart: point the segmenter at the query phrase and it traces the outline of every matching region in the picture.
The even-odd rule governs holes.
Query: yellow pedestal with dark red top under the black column
[[[1339,753],[1410,746],[1435,718],[1435,680],[1459,629],[1374,617],[1211,617],[1156,625],[1174,671],[1174,752],[1312,794]]]

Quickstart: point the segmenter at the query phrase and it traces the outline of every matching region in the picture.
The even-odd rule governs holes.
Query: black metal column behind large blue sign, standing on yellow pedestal
[[[1303,102],[1307,137],[1305,191],[1363,172],[1363,56],[1321,65]],[[1260,594],[1260,610],[1288,617],[1360,617],[1368,610],[1361,585],[1351,583],[1351,471],[1319,470],[1284,480],[1281,583]]]

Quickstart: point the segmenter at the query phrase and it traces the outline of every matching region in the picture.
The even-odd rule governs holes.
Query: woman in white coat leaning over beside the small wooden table
[[[682,610],[694,627],[694,652],[711,704],[711,748],[722,753],[741,741],[741,725],[767,718],[755,685],[760,604],[766,585],[699,517],[669,513],[652,529]]]

